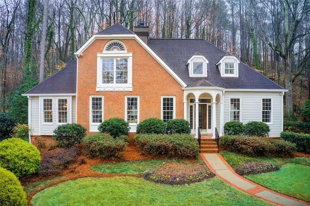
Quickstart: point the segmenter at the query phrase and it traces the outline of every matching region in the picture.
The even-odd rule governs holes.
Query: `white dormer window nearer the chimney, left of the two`
[[[209,61],[202,55],[192,56],[186,63],[189,76],[207,76],[207,63]]]

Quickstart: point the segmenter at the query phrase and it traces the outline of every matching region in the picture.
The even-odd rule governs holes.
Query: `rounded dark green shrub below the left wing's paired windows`
[[[59,147],[72,147],[78,144],[86,135],[86,129],[77,123],[59,125],[54,130],[53,139]]]

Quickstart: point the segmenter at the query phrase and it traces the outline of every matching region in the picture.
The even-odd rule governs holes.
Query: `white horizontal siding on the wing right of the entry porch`
[[[272,99],[272,122],[269,136],[280,136],[282,132],[282,96],[280,92],[235,92],[226,91],[224,97],[224,124],[229,121],[230,98],[241,98],[241,121],[262,121],[262,99]]]

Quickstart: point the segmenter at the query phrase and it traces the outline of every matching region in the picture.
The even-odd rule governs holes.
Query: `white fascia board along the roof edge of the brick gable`
[[[136,34],[115,34],[115,35],[100,35],[95,34],[93,35],[76,53],[74,53],[77,57],[83,55],[83,51],[93,43],[96,39],[135,39],[182,87],[186,87],[186,83],[176,75],[171,68],[162,60],[160,59],[155,52],[145,44],[140,37]]]

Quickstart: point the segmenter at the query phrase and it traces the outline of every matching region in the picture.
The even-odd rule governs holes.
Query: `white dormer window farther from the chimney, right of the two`
[[[234,56],[225,56],[218,61],[217,66],[222,77],[238,77],[240,61]]]

